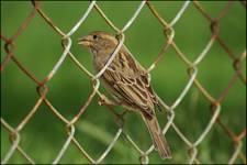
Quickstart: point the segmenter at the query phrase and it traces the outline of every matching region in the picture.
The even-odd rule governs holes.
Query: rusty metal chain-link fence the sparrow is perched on
[[[166,103],[166,101],[164,100],[161,101],[160,99],[160,101],[162,102],[162,106],[167,109],[166,116],[168,119],[167,123],[162,127],[164,128],[162,133],[166,134],[168,130],[172,129],[177,134],[177,136],[173,136],[173,139],[182,140],[183,143],[188,146],[187,152],[188,152],[189,158],[184,160],[184,163],[200,164],[202,162],[200,161],[198,156],[200,153],[198,147],[203,142],[203,140],[207,136],[209,132],[218,125],[224,131],[222,135],[228,136],[233,142],[231,145],[234,148],[234,152],[232,153],[231,157],[228,157],[228,162],[225,162],[225,163],[234,164],[236,162],[240,162],[246,164],[246,153],[244,150],[245,146],[243,145],[243,140],[246,138],[245,124],[243,124],[244,128],[242,128],[240,132],[236,132],[235,130],[229,129],[229,127],[221,118],[222,102],[225,100],[229,89],[233,88],[233,86],[236,84],[237,80],[240,80],[244,84],[243,90],[246,90],[245,88],[246,76],[242,69],[243,68],[242,65],[246,61],[246,47],[243,47],[242,54],[239,55],[235,54],[226,45],[225,41],[220,35],[220,22],[223,18],[225,18],[225,15],[227,15],[229,8],[234,3],[240,3],[240,6],[243,6],[243,10],[246,10],[246,1],[226,1],[225,7],[222,9],[222,11],[216,16],[212,16],[210,14],[210,11],[206,11],[200,1],[184,1],[180,10],[177,12],[177,14],[173,15],[173,19],[170,22],[168,22],[156,10],[151,1],[141,1],[138,7],[136,7],[136,10],[133,12],[133,15],[123,25],[123,28],[117,28],[104,13],[104,11],[102,10],[102,8],[99,6],[97,1],[90,1],[88,9],[86,11],[81,11],[82,14],[79,18],[78,22],[76,22],[75,25],[72,25],[69,32],[64,32],[58,25],[54,23],[54,21],[49,18],[49,15],[43,11],[42,2],[32,1],[31,4],[33,6],[33,10],[29,13],[26,19],[22,22],[20,28],[16,30],[16,32],[11,37],[5,36],[1,32],[1,42],[4,43],[4,52],[5,52],[5,55],[1,61],[1,75],[4,74],[4,69],[8,67],[9,63],[13,62],[14,65],[18,66],[20,72],[24,73],[33,81],[33,84],[36,85],[36,92],[40,97],[36,100],[36,102],[33,105],[32,109],[29,110],[26,116],[21,120],[21,122],[16,127],[13,127],[13,124],[10,123],[8,119],[3,119],[3,117],[1,117],[1,127],[9,132],[10,142],[11,142],[11,147],[1,157],[1,164],[8,164],[14,153],[20,154],[21,156],[23,156],[23,158],[25,158],[31,164],[36,163],[35,160],[33,160],[30,156],[30,154],[23,150],[21,145],[21,141],[23,140],[22,138],[23,129],[34,118],[35,113],[40,110],[38,108],[42,105],[45,105],[50,110],[53,116],[56,117],[66,125],[65,130],[67,132],[67,139],[64,142],[63,146],[60,146],[60,151],[57,153],[57,156],[54,157],[54,161],[52,162],[53,164],[58,164],[60,162],[63,156],[66,155],[66,151],[68,150],[70,145],[76,146],[76,148],[78,148],[78,152],[81,154],[83,158],[88,161],[88,163],[92,163],[92,164],[103,163],[104,158],[109,154],[111,154],[110,151],[114,147],[114,145],[117,143],[121,136],[123,136],[131,144],[130,147],[135,148],[136,152],[139,154],[139,163],[142,164],[151,163],[149,162],[149,154],[154,151],[154,145],[150,145],[148,150],[144,150],[141,146],[138,146],[138,144],[131,138],[131,135],[123,128],[125,124],[124,114],[119,114],[117,111],[114,110],[115,107],[112,107],[110,105],[105,105],[105,106],[117,119],[115,120],[115,122],[119,127],[119,130],[115,132],[114,138],[112,139],[111,143],[109,143],[105,151],[99,157],[96,158],[93,155],[90,155],[87,152],[87,150],[83,148],[82,144],[78,141],[78,139],[75,136],[75,133],[77,131],[76,123],[78,122],[78,120],[83,120],[85,117],[82,114],[85,113],[87,108],[90,106],[92,99],[96,96],[98,96],[100,97],[101,101],[105,100],[105,96],[99,90],[99,87],[100,87],[99,78],[103,74],[103,72],[106,69],[106,67],[111,64],[117,51],[124,44],[125,32],[128,31],[131,25],[135,23],[136,18],[138,16],[138,14],[142,12],[144,8],[147,8],[149,10],[149,14],[151,14],[154,18],[157,19],[157,21],[159,22],[159,25],[162,28],[162,31],[160,31],[160,34],[165,34],[166,36],[166,42],[162,44],[162,47],[160,48],[156,59],[151,63],[149,67],[146,68],[147,73],[150,73],[153,69],[156,68],[157,65],[160,65],[160,59],[166,54],[167,50],[173,50],[177,56],[180,58],[180,61],[183,62],[188,68],[188,78],[189,78],[188,82],[186,84],[184,88],[181,90],[177,99],[173,101],[173,103],[168,105]],[[209,40],[204,48],[201,51],[201,53],[198,55],[198,57],[194,61],[190,61],[173,40],[176,34],[176,30],[173,29],[173,26],[179,23],[180,19],[182,19],[182,15],[187,12],[188,7],[197,9],[197,12],[199,12],[203,16],[203,19],[207,21],[207,23],[210,24],[210,30],[212,32],[211,38]],[[79,59],[75,56],[75,54],[71,51],[71,45],[74,44],[71,36],[74,35],[76,31],[78,31],[80,25],[83,24],[83,22],[86,21],[86,19],[91,12],[99,13],[99,15],[105,21],[105,23],[112,30],[114,30],[115,33],[120,34],[121,36],[119,41],[119,45],[115,48],[114,53],[111,55],[111,58],[109,59],[106,65],[102,68],[102,70],[100,70],[96,75],[90,73],[88,68],[79,62]],[[19,61],[14,52],[14,48],[18,46],[15,45],[16,38],[19,38],[19,36],[26,30],[26,28],[34,20],[34,16],[36,14],[38,14],[44,20],[44,23],[48,24],[48,26],[53,30],[54,33],[57,33],[60,35],[61,46],[64,48],[64,52],[61,53],[59,59],[54,65],[53,69],[43,79],[40,79],[34,74],[32,74],[32,72],[29,70],[25,67],[25,65],[23,65]],[[228,81],[228,85],[225,87],[225,89],[221,94],[217,95],[218,97],[214,97],[198,78],[199,65],[203,62],[203,59],[206,57],[210,50],[215,43],[221,45],[222,50],[232,61],[233,68],[235,70],[235,74],[232,76],[231,80]],[[35,45],[32,45],[32,43],[29,43],[29,44],[31,44],[30,46],[35,46]],[[65,61],[74,62],[75,66],[79,68],[81,74],[87,75],[88,80],[90,80],[91,87],[92,87],[92,90],[90,95],[88,96],[87,101],[81,105],[81,108],[78,109],[77,114],[72,119],[67,119],[65,116],[63,116],[59,112],[59,110],[55,108],[55,106],[53,105],[53,101],[49,100],[48,97],[46,97],[47,94],[49,92],[49,88],[47,84],[53,80],[53,77],[56,76],[58,69],[61,67]],[[175,122],[175,119],[176,119],[175,114],[177,113],[176,109],[181,103],[181,101],[186,98],[188,91],[192,87],[197,87],[197,90],[200,91],[200,94],[206,98],[206,100],[211,105],[209,110],[212,112],[212,117],[209,120],[207,125],[203,129],[201,134],[195,140],[190,140],[189,138],[187,138],[187,135],[183,133],[183,130],[179,129],[179,127]],[[1,109],[1,111],[8,111],[8,109]],[[176,152],[176,150],[177,148],[172,148],[172,152]],[[176,163],[176,160],[171,160],[171,161]],[[47,162],[47,163],[50,163],[50,162]],[[166,163],[166,160],[164,161],[164,163]],[[206,163],[206,162],[203,162],[203,163]]]

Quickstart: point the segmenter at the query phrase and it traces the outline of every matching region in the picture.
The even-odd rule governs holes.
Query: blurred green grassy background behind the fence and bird
[[[122,28],[132,16],[139,2],[100,1],[98,4],[119,28]],[[182,6],[182,1],[151,2],[166,21],[171,21]],[[203,8],[216,16],[226,2],[201,2]],[[42,9],[64,32],[68,32],[88,8],[89,2],[42,2]],[[10,37],[29,12],[31,2],[1,1],[1,35]],[[240,55],[246,48],[246,9],[236,1],[228,13],[220,22],[220,34],[226,45]],[[112,32],[96,10],[93,10],[80,29],[72,35],[71,52],[89,70],[93,72],[91,56],[86,48],[76,44],[76,40],[91,31]],[[181,51],[193,61],[211,38],[210,24],[191,3],[175,25],[175,42]],[[125,45],[144,67],[148,67],[160,51],[165,36],[162,26],[154,18],[147,7],[132,26],[125,32]],[[4,43],[1,42],[1,59],[5,56]],[[54,67],[63,53],[60,36],[36,14],[27,29],[18,37],[14,53],[18,59],[37,78],[43,79]],[[246,74],[246,62],[243,63]],[[234,75],[233,61],[215,43],[206,57],[199,65],[198,78],[215,98],[224,90]],[[172,48],[165,54],[159,65],[151,72],[151,81],[157,94],[167,105],[171,105],[188,82],[187,66]],[[83,75],[67,58],[57,74],[47,84],[48,100],[67,119],[72,119],[85,103],[91,91],[90,79]],[[1,73],[1,117],[12,127],[32,109],[38,96],[36,85],[27,78],[13,62],[10,62]],[[100,87],[101,91],[104,91]],[[85,150],[98,158],[105,150],[117,125],[105,107],[98,106],[98,97],[76,123],[76,138]],[[121,109],[120,107],[115,108]],[[176,109],[175,123],[190,141],[195,141],[211,119],[210,102],[192,86],[182,102]],[[158,113],[160,124],[166,123],[166,117]],[[246,87],[238,79],[229,89],[222,103],[221,118],[235,133],[246,125]],[[150,139],[139,117],[134,113],[126,116],[125,131],[143,150],[150,145]],[[21,146],[36,163],[50,163],[67,139],[65,124],[52,111],[42,105],[34,118],[21,131]],[[169,129],[167,140],[170,143],[173,158],[161,161],[156,152],[149,156],[150,163],[186,163],[188,161],[187,145],[178,134]],[[246,138],[244,139],[246,144]],[[1,127],[1,158],[11,146],[8,132]],[[245,145],[243,151],[246,153]],[[202,163],[226,163],[233,155],[231,139],[215,124],[203,142],[198,146],[198,158]],[[27,163],[15,152],[9,163]],[[60,163],[88,163],[71,144]],[[139,163],[138,153],[122,136],[109,153],[103,163]],[[239,163],[239,160],[237,161]]]

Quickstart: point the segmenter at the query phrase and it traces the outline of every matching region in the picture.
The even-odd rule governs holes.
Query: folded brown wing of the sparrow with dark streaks
[[[153,117],[154,106],[158,103],[156,96],[148,81],[148,75],[132,56],[120,52],[102,78],[120,101]]]

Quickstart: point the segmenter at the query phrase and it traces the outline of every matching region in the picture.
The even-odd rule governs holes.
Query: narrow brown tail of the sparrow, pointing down
[[[157,118],[154,116],[150,119],[144,114],[142,114],[142,117],[148,128],[155,148],[158,151],[160,157],[164,160],[171,158],[170,147],[162,135]]]

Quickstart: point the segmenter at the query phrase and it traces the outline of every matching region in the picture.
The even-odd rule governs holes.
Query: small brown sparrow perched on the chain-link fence
[[[106,32],[98,31],[79,38],[78,44],[90,48],[93,66],[97,72],[100,72],[119,41]],[[142,116],[159,155],[162,158],[171,158],[169,146],[155,114],[155,107],[159,107],[159,101],[149,84],[148,75],[124,45],[100,79],[116,102]]]

